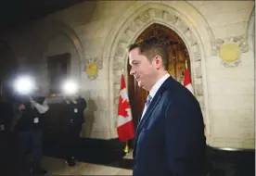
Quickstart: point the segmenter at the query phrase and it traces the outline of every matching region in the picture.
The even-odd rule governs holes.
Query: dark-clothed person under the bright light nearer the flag
[[[65,135],[67,158],[66,163],[69,166],[75,166],[75,149],[79,142],[80,132],[82,130],[83,110],[86,107],[86,101],[78,95],[64,97],[65,111],[67,115],[68,132]]]

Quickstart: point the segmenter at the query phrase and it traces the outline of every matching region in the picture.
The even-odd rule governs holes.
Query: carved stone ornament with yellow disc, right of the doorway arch
[[[237,67],[241,62],[240,54],[249,50],[249,44],[244,35],[217,39],[212,42],[212,55],[220,56],[224,67]]]

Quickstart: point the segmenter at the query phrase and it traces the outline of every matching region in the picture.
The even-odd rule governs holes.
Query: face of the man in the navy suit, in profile
[[[149,61],[147,57],[140,54],[139,48],[134,48],[129,52],[129,63],[132,66],[130,74],[134,75],[138,86],[150,91],[157,71],[154,59]]]

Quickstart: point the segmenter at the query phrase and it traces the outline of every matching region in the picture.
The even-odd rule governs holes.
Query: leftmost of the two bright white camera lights
[[[19,94],[31,94],[35,89],[35,84],[31,77],[22,76],[14,82],[14,89]]]

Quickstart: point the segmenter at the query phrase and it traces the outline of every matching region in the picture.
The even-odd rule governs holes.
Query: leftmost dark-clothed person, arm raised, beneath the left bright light
[[[19,170],[22,175],[45,175],[41,168],[43,157],[41,115],[49,107],[45,97],[19,96],[15,106],[11,130],[17,132]],[[28,155],[32,153],[32,155]]]

